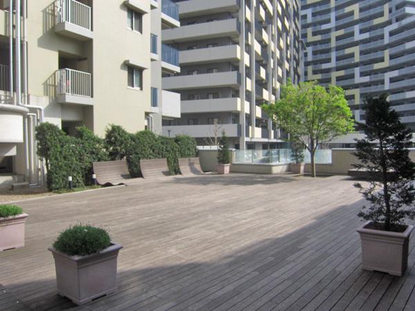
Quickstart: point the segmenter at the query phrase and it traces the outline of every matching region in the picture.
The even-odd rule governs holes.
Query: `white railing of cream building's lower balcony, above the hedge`
[[[91,73],[73,69],[59,69],[56,72],[57,95],[91,97]]]

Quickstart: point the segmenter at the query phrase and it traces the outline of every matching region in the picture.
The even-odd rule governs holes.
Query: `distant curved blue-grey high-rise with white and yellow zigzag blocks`
[[[365,97],[387,92],[415,129],[415,1],[301,2],[305,79],[342,86],[358,121]]]

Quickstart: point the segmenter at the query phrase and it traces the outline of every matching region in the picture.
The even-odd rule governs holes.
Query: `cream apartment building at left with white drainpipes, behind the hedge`
[[[42,182],[39,122],[161,133],[180,116],[180,95],[161,83],[180,71],[178,51],[161,33],[179,26],[170,0],[0,1],[0,173]]]

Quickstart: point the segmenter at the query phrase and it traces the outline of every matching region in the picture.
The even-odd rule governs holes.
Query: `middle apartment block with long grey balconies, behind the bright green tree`
[[[301,78],[299,1],[176,2],[181,28],[163,30],[163,40],[180,50],[181,73],[165,75],[163,88],[181,93],[182,116],[163,122],[163,134],[205,145],[225,131],[240,149],[282,142],[259,105]]]

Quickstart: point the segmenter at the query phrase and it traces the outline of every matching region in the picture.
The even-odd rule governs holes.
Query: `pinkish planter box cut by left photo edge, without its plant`
[[[24,247],[24,224],[28,214],[0,217],[0,251]]]

